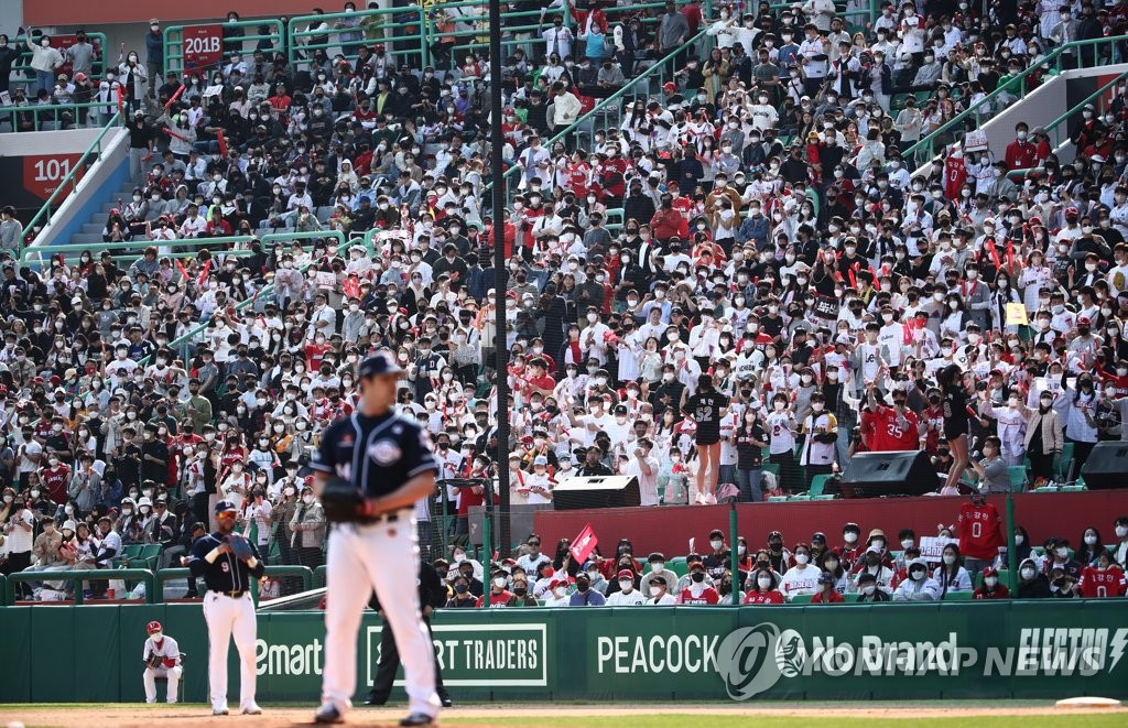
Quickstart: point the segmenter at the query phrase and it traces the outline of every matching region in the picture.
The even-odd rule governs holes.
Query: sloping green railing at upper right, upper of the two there
[[[1015,96],[1016,98],[1022,98],[1029,90],[1032,90],[1028,87],[1028,81],[1031,76],[1036,73],[1060,73],[1065,68],[1066,61],[1066,57],[1063,56],[1065,56],[1067,52],[1072,51],[1077,55],[1081,55],[1085,48],[1094,46],[1092,52],[1095,54],[1098,61],[1111,61],[1113,56],[1111,50],[1113,46],[1118,43],[1125,42],[1128,42],[1128,35],[1091,38],[1089,41],[1073,41],[1054,48],[1047,53],[1040,62],[1031,65],[1014,77],[1001,80],[998,87],[994,91],[979,99],[977,104],[973,104],[957,114],[951,121],[926,135],[913,147],[909,147],[905,150],[901,157],[914,159],[918,167],[932,161],[940,156],[944,145],[957,141],[957,135],[962,137],[963,132],[979,128],[987,119],[1001,110],[995,108],[995,103],[1001,96],[1008,94],[1011,96]],[[1108,47],[1098,48],[1095,46]],[[1102,65],[1102,63],[1099,62],[1098,65]]]

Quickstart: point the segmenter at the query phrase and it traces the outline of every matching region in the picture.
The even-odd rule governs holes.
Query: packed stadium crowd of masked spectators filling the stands
[[[607,474],[636,477],[645,507],[764,500],[864,451],[927,452],[940,495],[1007,490],[1007,468],[1024,464],[1032,483],[1072,481],[1096,442],[1128,440],[1123,83],[1108,108],[1082,112],[1065,159],[1046,130],[1020,123],[1006,149],[964,151],[964,130],[945,123],[1057,45],[1123,33],[1128,3],[882,3],[872,24],[867,8],[716,1],[707,17],[697,0],[554,2],[539,30],[506,29],[520,43],[506,46],[501,153],[519,169],[500,221],[504,272],[476,52],[443,41],[421,68],[358,16],[310,25],[340,42],[332,54],[291,65],[240,26],[219,65],[166,73],[153,19],[146,48],[96,78],[77,64],[56,76],[78,60],[33,30],[36,76],[12,77],[17,107],[125,90],[136,188],[104,239],[135,248],[33,267],[19,245],[35,231],[3,211],[2,571],[106,568],[138,544],[177,566],[220,498],[272,562],[320,565],[309,458],[353,411],[355,367],[380,347],[406,370],[399,406],[425,423],[440,477],[462,483],[416,508],[424,524],[451,516],[443,535],[468,533],[497,468],[511,501],[534,505],[562,479]],[[432,19],[481,29],[459,12],[438,3]],[[10,42],[0,35],[5,83],[24,52]],[[1066,62],[1104,54],[1122,47]],[[570,126],[655,63],[669,80],[613,100],[617,123]],[[990,112],[1016,99],[1001,94]],[[946,162],[918,169],[904,152],[937,131]],[[232,234],[253,239],[174,257],[180,240]],[[139,257],[120,265],[125,252]],[[501,447],[499,416],[511,427]],[[1059,540],[1029,565],[1023,533],[1026,595],[1079,594],[1090,570],[1119,572],[1122,594],[1109,565],[1125,563],[1128,520],[1114,527],[1109,553],[1092,530],[1073,556]],[[980,574],[980,588],[997,583],[993,553],[969,574],[945,547],[933,569],[906,545],[915,535],[895,558],[884,534],[862,544],[848,529],[839,548],[742,542],[737,579],[723,538],[685,576],[651,554],[667,575],[656,595],[642,554],[622,549],[598,575],[566,548],[541,554],[539,539],[502,574],[461,545],[439,565],[452,606],[476,603],[486,578],[492,605],[693,603],[714,587],[731,600],[733,584],[746,602],[775,601],[781,585],[787,598],[828,585],[924,598]]]

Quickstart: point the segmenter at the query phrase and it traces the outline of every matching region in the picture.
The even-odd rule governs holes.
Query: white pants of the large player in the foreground
[[[372,589],[404,664],[408,709],[437,716],[434,647],[420,613],[415,518],[335,525],[329,534],[321,702],[344,713],[356,690],[356,631]],[[406,575],[406,577],[405,577]],[[409,577],[409,578],[408,578]]]

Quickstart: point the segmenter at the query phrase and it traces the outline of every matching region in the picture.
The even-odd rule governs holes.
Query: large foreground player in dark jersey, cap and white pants
[[[360,406],[329,426],[310,467],[320,495],[335,478],[350,480],[363,496],[364,522],[334,523],[329,532],[328,600],[325,610],[325,672],[321,705],[314,720],[341,722],[356,690],[356,631],[374,589],[404,664],[409,714],[400,726],[429,726],[440,701],[434,652],[420,613],[416,589],[405,574],[418,570],[413,509],[434,491],[438,464],[415,419],[395,409],[403,370],[390,352],[364,359],[358,372]]]

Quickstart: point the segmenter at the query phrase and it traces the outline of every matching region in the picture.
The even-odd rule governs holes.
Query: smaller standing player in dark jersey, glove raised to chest
[[[250,583],[263,576],[266,566],[253,543],[233,533],[239,511],[230,500],[215,504],[215,532],[192,544],[188,568],[203,577],[204,621],[208,622],[208,681],[212,714],[226,716],[227,650],[235,637],[239,650],[239,710],[244,714],[263,712],[255,703],[255,605]]]

